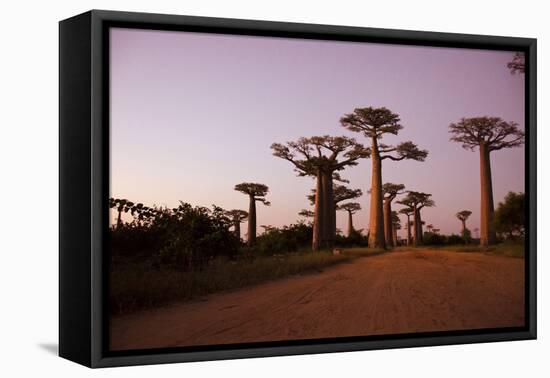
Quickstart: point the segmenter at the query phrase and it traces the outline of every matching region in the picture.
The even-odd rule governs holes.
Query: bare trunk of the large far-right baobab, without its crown
[[[496,233],[493,226],[495,207],[493,203],[493,182],[491,178],[491,151],[484,143],[479,145],[481,176],[481,226],[480,244],[494,244]]]

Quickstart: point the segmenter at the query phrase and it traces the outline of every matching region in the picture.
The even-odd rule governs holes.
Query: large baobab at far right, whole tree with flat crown
[[[451,141],[462,143],[464,149],[479,148],[481,178],[481,235],[480,244],[487,246],[496,241],[493,225],[495,205],[491,177],[491,152],[521,146],[525,133],[515,122],[506,122],[499,117],[462,118],[449,125]]]

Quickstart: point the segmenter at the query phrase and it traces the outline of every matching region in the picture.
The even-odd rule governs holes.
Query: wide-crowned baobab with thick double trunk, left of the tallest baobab
[[[291,162],[299,176],[316,178],[312,249],[332,247],[336,238],[334,173],[370,157],[370,150],[353,138],[329,135],[273,143],[271,149],[274,156]]]

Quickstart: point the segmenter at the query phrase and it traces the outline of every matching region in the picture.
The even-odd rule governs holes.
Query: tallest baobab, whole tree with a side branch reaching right
[[[382,161],[412,159],[424,161],[428,152],[419,149],[411,141],[395,146],[379,143],[385,134],[397,135],[403,128],[399,123],[399,115],[387,108],[356,108],[353,113],[346,114],[340,123],[348,130],[362,133],[371,142],[372,183],[369,217],[369,247],[385,248],[384,213],[382,193]]]

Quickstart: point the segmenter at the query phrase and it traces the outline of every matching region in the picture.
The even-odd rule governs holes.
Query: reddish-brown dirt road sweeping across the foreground
[[[524,261],[389,252],[325,270],[115,317],[111,349],[522,326]]]

